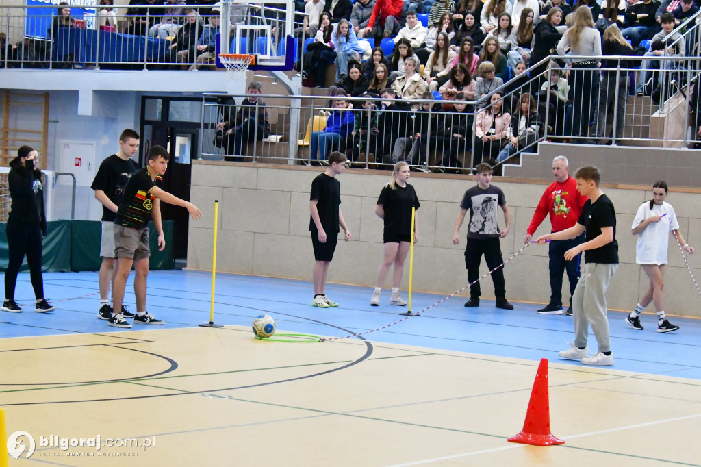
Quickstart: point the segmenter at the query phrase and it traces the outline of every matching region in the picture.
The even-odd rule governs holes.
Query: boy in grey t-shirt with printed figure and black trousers
[[[503,238],[509,233],[511,226],[511,215],[509,207],[506,205],[504,192],[500,188],[491,185],[491,165],[481,163],[477,165],[477,185],[465,191],[463,201],[460,203],[460,212],[455,220],[455,232],[453,243],[460,243],[460,227],[465,220],[465,214],[470,210],[470,226],[468,227],[468,244],[465,247],[465,269],[468,270],[468,281],[470,285],[470,299],[465,302],[465,306],[479,306],[479,263],[484,261],[491,273],[491,280],[494,282],[494,295],[496,297],[496,307],[504,310],[514,309],[513,305],[506,299],[506,289],[504,283],[504,269],[499,267],[504,259],[501,256],[501,243],[499,238]],[[504,211],[506,227],[499,230],[499,213],[497,206]],[[497,269],[498,268],[498,269]]]

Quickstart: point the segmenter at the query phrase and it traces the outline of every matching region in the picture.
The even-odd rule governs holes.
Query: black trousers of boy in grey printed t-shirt
[[[489,270],[503,264],[504,259],[501,256],[501,243],[499,238],[468,238],[468,245],[465,248],[465,269],[468,270],[468,282],[470,285],[470,298],[478,299],[482,295],[479,288],[479,263],[482,262],[482,255],[486,261]],[[501,267],[491,273],[491,280],[494,283],[494,296],[497,299],[506,298],[506,289],[504,283],[504,268]]]

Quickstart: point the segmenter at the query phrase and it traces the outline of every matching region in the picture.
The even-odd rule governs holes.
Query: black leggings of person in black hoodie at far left
[[[5,271],[5,299],[15,299],[17,274],[27,255],[29,277],[34,287],[34,297],[42,299],[43,278],[41,277],[41,229],[39,225],[25,224],[9,219],[7,222],[8,264]]]

